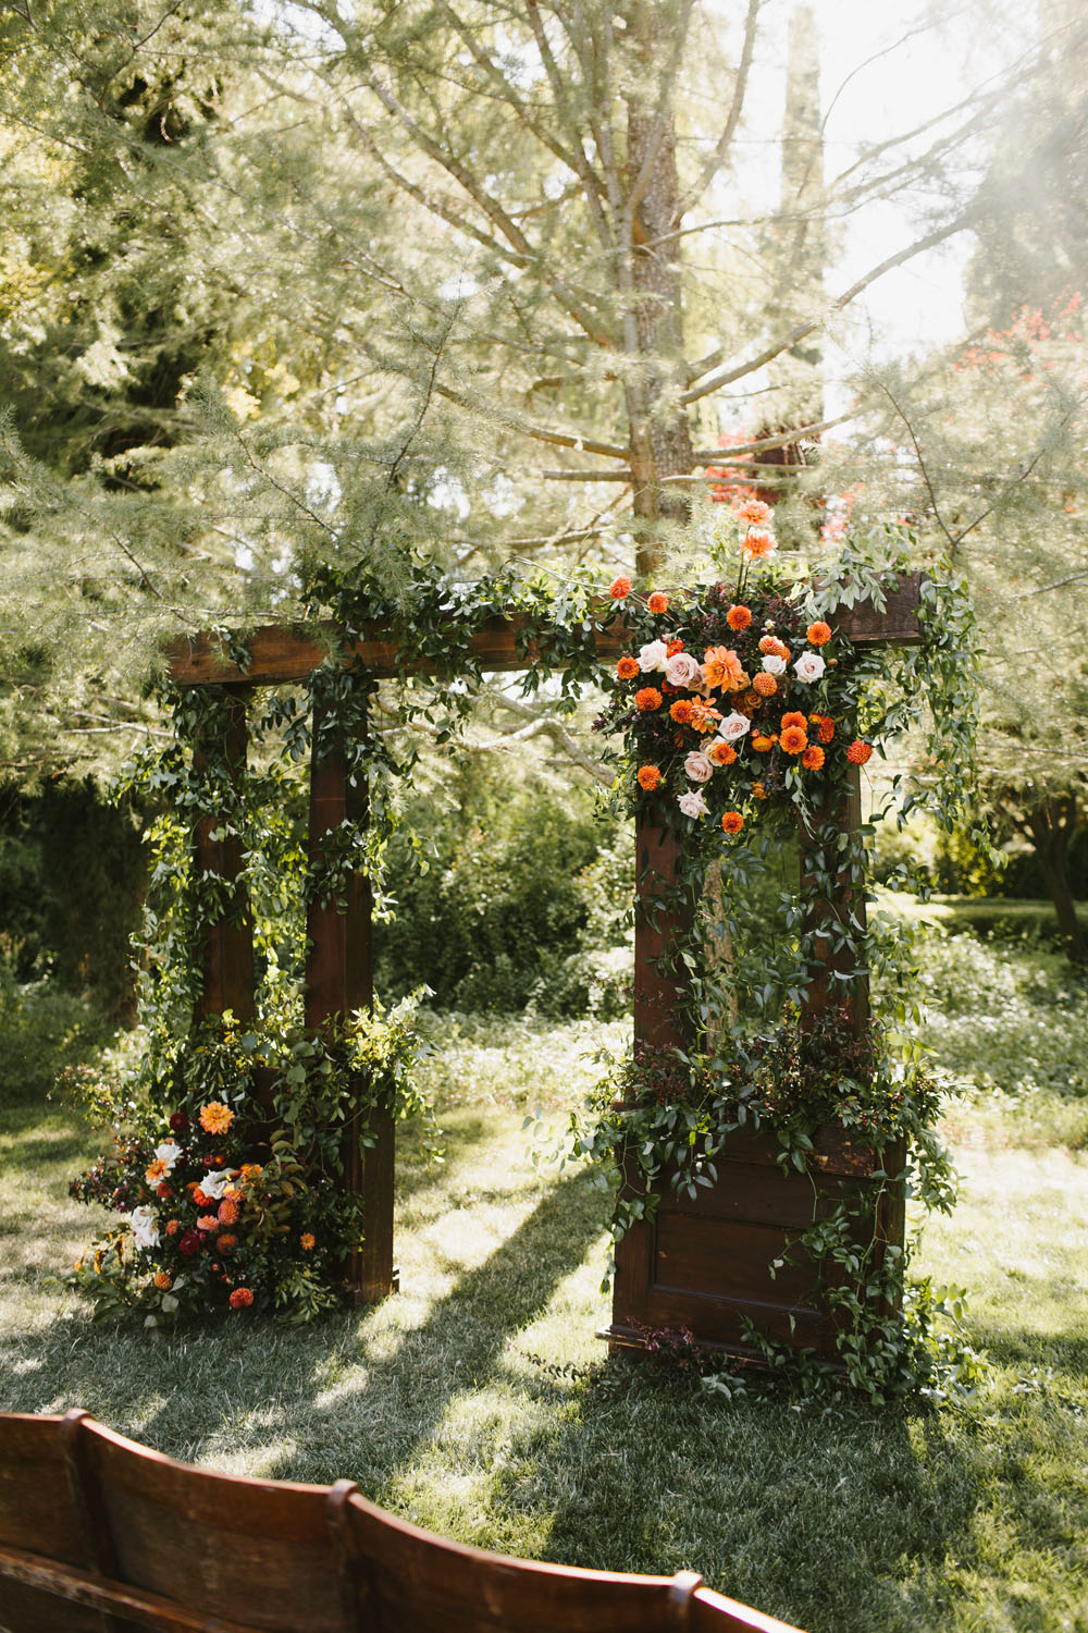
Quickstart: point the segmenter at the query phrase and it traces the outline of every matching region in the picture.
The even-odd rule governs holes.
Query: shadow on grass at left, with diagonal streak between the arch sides
[[[382,1497],[465,1390],[499,1372],[506,1341],[546,1306],[600,1231],[584,1176],[550,1189],[484,1264],[406,1326],[406,1305],[336,1313],[312,1328],[42,1319],[0,1344],[0,1409],[83,1406],[171,1457],[259,1452],[263,1478],[346,1476]]]

